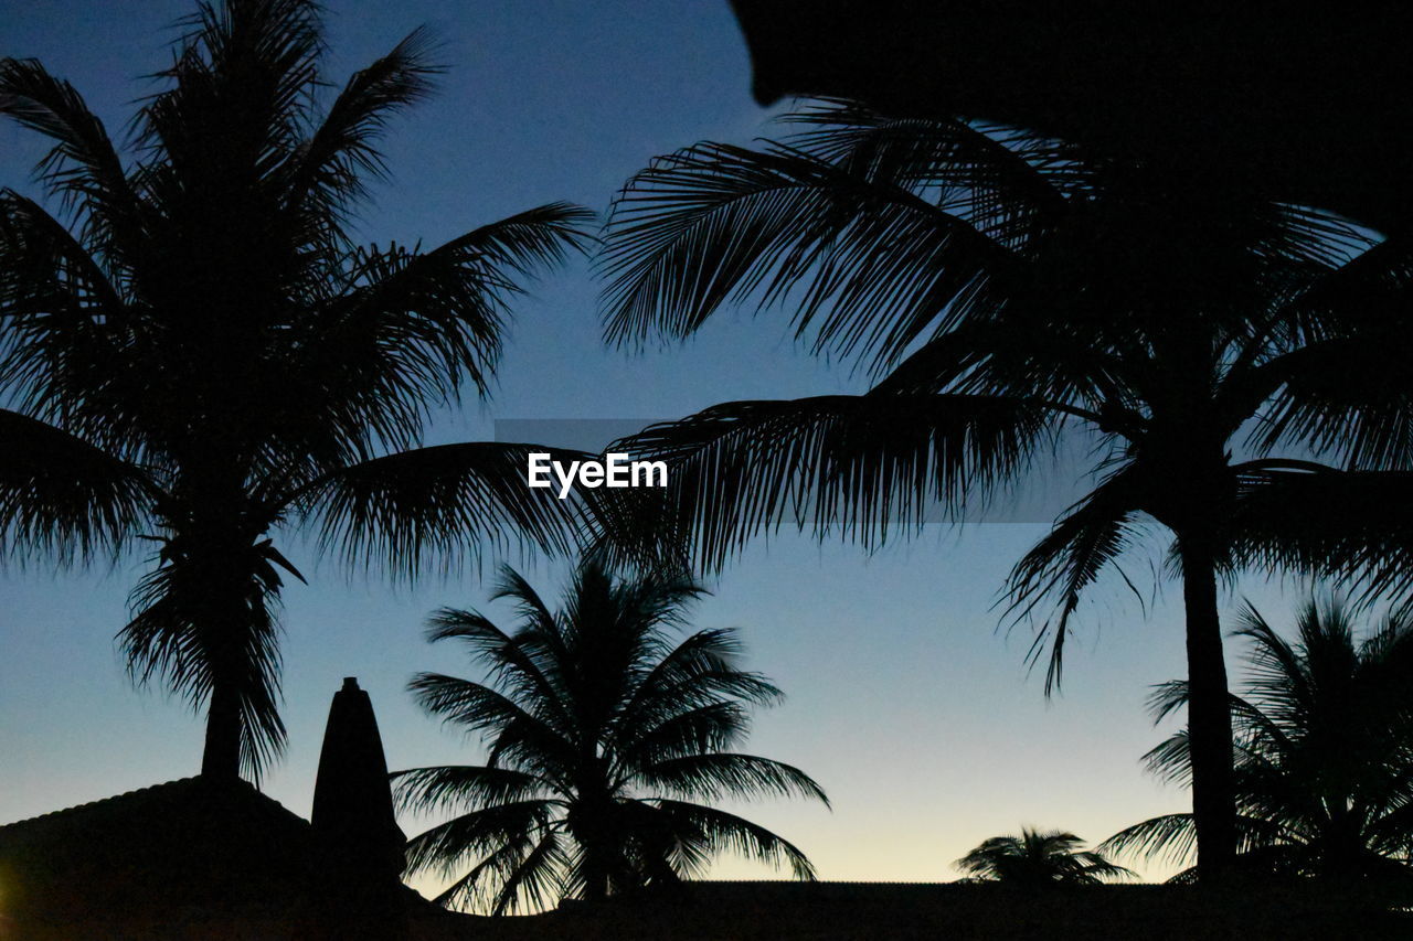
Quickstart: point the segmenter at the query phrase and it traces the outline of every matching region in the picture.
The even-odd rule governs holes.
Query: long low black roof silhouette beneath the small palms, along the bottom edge
[[[1197,886],[704,882],[657,899],[577,906],[547,916],[479,920],[452,934],[526,941],[1328,941],[1413,937],[1413,920],[1369,901],[1307,890],[1217,893]]]

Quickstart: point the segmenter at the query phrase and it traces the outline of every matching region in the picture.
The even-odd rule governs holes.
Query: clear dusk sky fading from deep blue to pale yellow
[[[771,116],[750,97],[725,0],[328,7],[329,75],[339,81],[424,23],[449,65],[438,96],[386,143],[393,177],[360,222],[370,242],[434,244],[555,199],[602,212],[651,157],[699,140],[747,143]],[[151,89],[141,76],[167,61],[170,25],[191,8],[0,0],[0,55],[44,61],[116,133]],[[37,138],[0,124],[0,185],[30,189],[41,155]],[[846,369],[810,357],[781,314],[723,311],[685,345],[606,348],[596,291],[584,263],[537,283],[517,305],[492,398],[448,410],[428,439],[492,438],[497,420],[646,424],[718,401],[862,389]],[[948,880],[952,860],[1023,824],[1099,841],[1186,808],[1183,791],[1140,766],[1170,730],[1154,729],[1145,699],[1183,674],[1180,591],[1159,579],[1140,603],[1113,581],[1098,586],[1063,692],[1047,699],[1043,668],[1026,668],[1027,629],[1007,633],[995,608],[1010,564],[1044,531],[1034,519],[933,524],[873,557],[781,534],[709,579],[714,595],[695,625],[739,627],[747,665],[787,694],[757,716],[749,750],[804,769],[832,800],[832,811],[760,803],[743,812],[804,849],[821,877]],[[456,650],[424,643],[422,623],[442,605],[483,608],[497,560],[394,585],[319,561],[298,537],[281,545],[311,584],[285,593],[290,746],[263,788],[308,814],[329,699],[346,675],[373,698],[391,769],[476,762],[479,743],[424,716],[404,687],[422,670],[479,678]],[[562,565],[509,561],[543,595],[558,593]],[[1150,585],[1142,576],[1159,562],[1156,551],[1140,554],[1130,574]],[[199,716],[160,688],[134,690],[114,649],[127,591],[146,568],[141,554],[112,569],[0,564],[0,824],[199,769]],[[1289,622],[1296,603],[1277,586],[1243,582],[1228,589],[1225,612],[1243,599],[1275,622]],[[486,610],[510,622],[504,608]],[[1238,650],[1228,650],[1235,667]],[[427,821],[403,822],[411,834]],[[739,860],[714,869],[769,875]]]

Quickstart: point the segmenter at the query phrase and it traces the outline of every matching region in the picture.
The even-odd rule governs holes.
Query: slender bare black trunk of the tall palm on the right
[[[1195,527],[1194,527],[1195,528]],[[1236,859],[1232,716],[1217,608],[1217,560],[1207,533],[1178,534],[1187,608],[1187,735],[1193,757],[1193,819],[1202,882],[1222,880]]]

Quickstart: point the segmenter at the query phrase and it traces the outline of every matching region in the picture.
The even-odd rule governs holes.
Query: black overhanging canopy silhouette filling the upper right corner
[[[1385,230],[1413,209],[1413,4],[732,0],[763,103],[856,97],[1238,175]]]

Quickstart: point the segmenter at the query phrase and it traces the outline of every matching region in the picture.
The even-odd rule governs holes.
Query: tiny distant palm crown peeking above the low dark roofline
[[[992,836],[954,865],[965,882],[1003,882],[1013,886],[1092,886],[1133,873],[1115,866],[1084,841],[1058,829],[1041,832],[1023,827],[1020,836]]]

